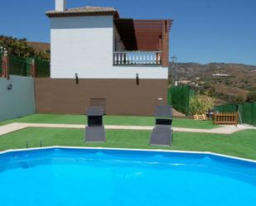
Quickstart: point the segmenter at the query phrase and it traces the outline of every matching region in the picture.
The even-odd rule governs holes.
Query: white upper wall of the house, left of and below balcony
[[[51,78],[168,78],[168,69],[161,66],[114,66],[114,33],[112,16],[52,17]]]

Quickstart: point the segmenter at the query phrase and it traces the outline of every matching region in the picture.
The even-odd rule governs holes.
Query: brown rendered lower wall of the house
[[[85,114],[90,98],[106,98],[108,115],[153,115],[167,103],[167,79],[35,79],[36,113]]]

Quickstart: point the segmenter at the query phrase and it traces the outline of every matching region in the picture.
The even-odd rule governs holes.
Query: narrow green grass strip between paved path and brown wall
[[[62,124],[85,124],[85,115],[61,115],[61,114],[33,114],[26,117],[15,118],[0,122],[4,125],[12,122],[33,122],[33,123],[62,123]],[[134,116],[104,116],[106,125],[135,125],[135,126],[153,126],[154,117],[134,117]],[[173,127],[203,128],[210,129],[215,126],[210,121],[196,121],[189,118],[174,118]]]

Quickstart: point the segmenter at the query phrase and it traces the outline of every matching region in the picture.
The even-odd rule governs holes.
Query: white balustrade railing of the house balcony
[[[162,51],[114,51],[114,65],[162,65]]]

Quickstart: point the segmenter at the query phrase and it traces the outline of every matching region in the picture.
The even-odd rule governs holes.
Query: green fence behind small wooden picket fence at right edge
[[[256,126],[256,103],[225,104],[215,107],[217,112],[239,112],[239,122]]]

